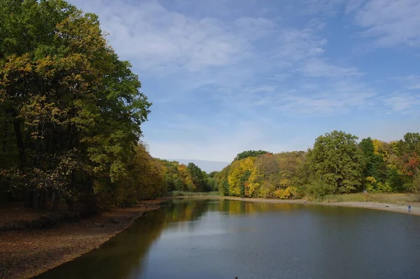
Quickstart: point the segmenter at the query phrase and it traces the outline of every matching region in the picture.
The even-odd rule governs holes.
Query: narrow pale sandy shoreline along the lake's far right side
[[[365,208],[374,210],[383,210],[394,213],[404,213],[409,215],[420,216],[420,206],[413,206],[412,212],[408,212],[407,206],[402,206],[396,203],[377,203],[372,201],[342,201],[336,203],[325,203],[316,201],[306,201],[304,199],[262,199],[262,198],[239,198],[237,196],[174,196],[169,199],[228,199],[232,201],[249,201],[249,202],[265,202],[265,203],[300,203],[315,206],[342,206],[353,208]]]

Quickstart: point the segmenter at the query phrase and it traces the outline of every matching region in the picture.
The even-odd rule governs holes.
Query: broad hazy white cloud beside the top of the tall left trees
[[[144,71],[200,71],[233,64],[248,54],[244,30],[267,25],[264,20],[242,19],[237,29],[226,28],[216,18],[188,17],[158,1],[87,1],[78,6],[99,14],[113,48],[125,59],[138,61],[137,69]]]

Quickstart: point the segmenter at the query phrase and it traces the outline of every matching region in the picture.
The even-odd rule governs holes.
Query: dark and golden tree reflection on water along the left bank
[[[175,200],[158,210],[149,211],[140,217],[132,227],[105,243],[99,250],[36,276],[43,278],[139,278],[144,271],[148,250],[162,231],[170,224],[188,222],[193,229],[194,221],[200,219],[207,210],[216,210],[206,200]]]

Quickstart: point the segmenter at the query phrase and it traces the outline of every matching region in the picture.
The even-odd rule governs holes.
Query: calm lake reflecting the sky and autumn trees
[[[420,217],[175,199],[36,279],[420,278]]]

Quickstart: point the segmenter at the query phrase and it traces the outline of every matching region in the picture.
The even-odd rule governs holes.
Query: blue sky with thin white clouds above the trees
[[[71,0],[153,101],[151,155],[232,161],[420,130],[418,0]]]

